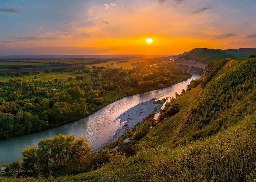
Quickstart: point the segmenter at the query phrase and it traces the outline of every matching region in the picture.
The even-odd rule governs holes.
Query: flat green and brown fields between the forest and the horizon
[[[95,63],[95,64],[89,64],[92,61],[103,61],[107,60],[105,63]],[[46,59],[46,60],[16,60],[16,61],[6,61],[1,60],[0,61],[0,73],[21,73],[21,72],[33,72],[37,71],[40,72],[36,75],[22,75],[21,77],[15,77],[13,78],[12,75],[0,75],[0,81],[9,81],[10,79],[21,79],[21,81],[32,81],[33,79],[36,80],[42,80],[42,81],[53,81],[54,79],[58,79],[59,81],[68,81],[68,77],[72,77],[74,83],[79,82],[75,80],[76,76],[83,76],[86,77],[83,79],[84,82],[90,82],[91,79],[94,77],[90,76],[89,74],[71,74],[66,72],[50,72],[50,73],[44,73],[45,70],[53,70],[53,69],[60,69],[65,68],[68,66],[79,66],[84,65],[88,69],[91,70],[95,69],[93,67],[105,67],[108,68],[122,68],[122,69],[131,69],[135,65],[132,65],[132,63],[140,63],[141,61],[145,60],[151,60],[151,58],[142,59],[139,57],[135,58],[115,58],[115,59]],[[57,64],[57,62],[65,63]],[[55,64],[55,66],[53,66]]]

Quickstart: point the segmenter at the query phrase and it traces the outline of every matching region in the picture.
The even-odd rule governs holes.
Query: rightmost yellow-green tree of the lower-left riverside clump
[[[86,138],[80,137],[74,142],[72,148],[73,158],[78,165],[79,162],[86,158],[86,155],[90,155],[93,147],[88,145],[88,140]]]

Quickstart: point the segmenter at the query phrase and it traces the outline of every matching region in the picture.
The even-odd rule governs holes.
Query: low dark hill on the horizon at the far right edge
[[[227,49],[220,51],[231,54],[233,57],[236,58],[248,58],[249,55],[256,54],[256,48]]]

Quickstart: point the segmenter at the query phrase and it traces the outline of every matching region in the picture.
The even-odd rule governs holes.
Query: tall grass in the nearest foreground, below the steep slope
[[[252,114],[234,127],[188,146],[144,149],[130,158],[113,155],[110,163],[90,173],[56,179],[0,177],[0,181],[253,181],[255,138],[256,114]]]

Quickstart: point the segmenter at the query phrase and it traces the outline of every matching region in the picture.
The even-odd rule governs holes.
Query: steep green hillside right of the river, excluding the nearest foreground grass
[[[205,138],[256,110],[256,59],[226,59],[209,67],[202,91],[197,87],[178,97],[174,104],[180,112],[155,127],[139,146],[177,146]]]

